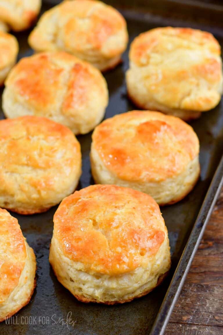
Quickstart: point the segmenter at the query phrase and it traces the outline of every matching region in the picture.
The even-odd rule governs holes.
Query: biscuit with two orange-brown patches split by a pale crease
[[[44,116],[75,134],[91,131],[108,104],[107,83],[101,72],[65,52],[22,58],[5,86],[2,108],[6,117]]]

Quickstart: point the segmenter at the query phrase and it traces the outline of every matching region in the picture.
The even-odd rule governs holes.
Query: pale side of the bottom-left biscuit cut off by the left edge
[[[29,303],[36,286],[35,255],[26,241],[25,245],[27,253],[25,266],[20,275],[18,285],[11,292],[8,299],[3,304],[0,304],[0,322],[5,321],[10,316],[17,313],[22,307],[26,306]]]

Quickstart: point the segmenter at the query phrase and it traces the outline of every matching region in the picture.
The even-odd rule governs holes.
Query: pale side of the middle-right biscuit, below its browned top
[[[182,200],[194,188],[200,176],[199,156],[197,155],[180,174],[161,182],[129,181],[120,179],[109,171],[92,143],[91,171],[96,184],[111,184],[130,187],[149,194],[159,205],[174,204]]]

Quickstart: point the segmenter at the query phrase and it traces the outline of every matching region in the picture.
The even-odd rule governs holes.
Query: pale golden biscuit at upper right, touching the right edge
[[[212,34],[190,28],[155,28],[130,46],[126,72],[130,99],[141,109],[196,119],[219,103],[221,48]]]

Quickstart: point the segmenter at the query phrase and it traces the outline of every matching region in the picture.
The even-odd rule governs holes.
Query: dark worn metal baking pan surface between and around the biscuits
[[[43,4],[42,11],[50,8],[52,3],[53,1],[48,1]],[[217,5],[207,4],[207,7],[206,5],[199,7],[199,5],[180,4],[177,1],[174,3],[171,1],[150,1],[149,5],[145,1],[135,1],[131,5],[128,1],[117,3],[110,1],[109,3],[116,7],[121,3],[121,11],[128,24],[130,42],[145,30],[156,26],[173,25],[209,30],[213,32],[221,44],[223,43],[222,8]],[[28,32],[16,34],[16,36],[20,45],[19,58],[31,55],[32,51],[27,44]],[[128,68],[127,54],[128,51],[125,52],[121,65],[105,74],[110,94],[106,118],[134,109],[126,97],[124,73]],[[3,118],[2,112],[1,118]],[[194,190],[183,201],[161,209],[169,231],[172,254],[170,275],[163,284],[145,297],[120,306],[107,307],[80,303],[57,281],[48,263],[49,244],[53,229],[52,218],[57,207],[51,208],[46,213],[33,216],[13,214],[18,218],[23,234],[36,254],[37,287],[31,302],[17,313],[17,318],[11,319],[9,325],[5,323],[0,325],[1,335],[144,335],[149,334],[150,331],[152,334],[163,333],[165,322],[167,322],[174,305],[173,299],[179,293],[184,273],[188,271],[187,264],[193,257],[193,248],[196,242],[201,238],[202,226],[205,224],[205,218],[209,214],[214,194],[223,174],[223,169],[220,167],[211,189],[209,189],[206,202],[203,204],[223,154],[222,103],[214,110],[204,113],[199,120],[193,121],[191,125],[198,134],[201,144],[201,178]],[[93,184],[89,162],[91,133],[78,136],[78,140],[81,143],[83,155],[83,174],[79,188],[83,188]],[[201,213],[198,217],[200,209]],[[190,236],[192,229],[194,229],[193,234]],[[189,243],[185,248],[188,239]],[[183,252],[184,256],[179,264]],[[174,275],[177,266],[178,269]],[[169,287],[172,278],[173,281]],[[167,291],[168,294],[164,299]],[[162,308],[159,311],[162,303]]]

